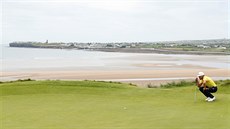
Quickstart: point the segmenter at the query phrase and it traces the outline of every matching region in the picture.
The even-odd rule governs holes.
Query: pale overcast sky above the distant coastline
[[[1,44],[229,38],[229,0],[1,0]]]

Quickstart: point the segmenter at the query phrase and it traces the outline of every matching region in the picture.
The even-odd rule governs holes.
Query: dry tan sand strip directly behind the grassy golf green
[[[189,70],[76,70],[76,71],[29,71],[3,72],[1,81],[18,79],[34,80],[95,80],[132,83],[138,87],[160,86],[169,82],[193,81],[196,73],[203,71],[214,80],[230,79],[226,69],[189,69]]]

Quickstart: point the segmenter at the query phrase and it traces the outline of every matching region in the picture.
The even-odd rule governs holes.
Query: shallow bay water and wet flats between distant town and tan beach
[[[0,45],[1,71],[230,68],[229,56],[116,53]],[[147,67],[146,67],[147,66]]]

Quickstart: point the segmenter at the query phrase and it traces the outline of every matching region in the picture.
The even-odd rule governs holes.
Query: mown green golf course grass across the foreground
[[[95,81],[0,84],[1,129],[229,129],[230,83],[215,102],[194,86],[138,88]]]

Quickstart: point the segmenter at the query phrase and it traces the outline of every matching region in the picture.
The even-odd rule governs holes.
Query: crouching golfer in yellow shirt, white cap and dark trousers
[[[214,101],[216,98],[211,94],[217,91],[216,83],[203,72],[199,72],[196,78],[196,84],[200,91],[207,97],[205,100],[208,102]]]

